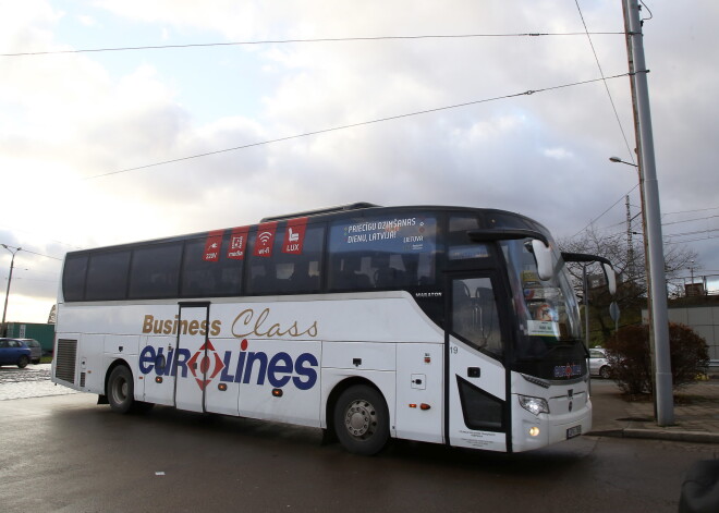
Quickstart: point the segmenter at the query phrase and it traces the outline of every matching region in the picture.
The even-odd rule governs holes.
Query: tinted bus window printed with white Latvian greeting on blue
[[[437,220],[411,213],[338,221],[330,230],[329,290],[401,290],[436,281]]]

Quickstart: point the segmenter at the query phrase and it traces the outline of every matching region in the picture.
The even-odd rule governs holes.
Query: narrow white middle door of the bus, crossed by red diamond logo
[[[174,403],[178,408],[205,411],[205,388],[211,369],[216,367],[211,359],[216,353],[210,346],[208,329],[209,303],[180,304],[172,372],[175,377]]]

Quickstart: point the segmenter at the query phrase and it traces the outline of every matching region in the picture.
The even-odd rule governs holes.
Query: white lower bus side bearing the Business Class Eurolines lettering
[[[77,340],[77,359],[86,380],[81,386],[76,379],[71,388],[105,394],[108,369],[123,359],[133,372],[138,401],[326,427],[325,404],[333,387],[360,377],[385,395],[392,436],[399,429],[403,438],[441,441],[443,331],[409,293],[219,298],[208,306],[207,315],[204,306],[180,308],[178,303],[159,301],[60,304],[57,339]],[[185,328],[192,332],[183,333],[179,320],[194,327]],[[211,349],[200,351],[207,340]],[[172,358],[180,351],[186,352],[184,365],[176,366],[173,376]],[[273,377],[284,386],[280,387],[282,396],[273,396],[272,389],[278,387],[271,386],[267,376],[271,369],[261,363],[237,376],[245,370],[240,368],[243,351],[247,359],[253,352],[264,353],[268,361],[280,353],[292,362],[312,355],[316,368],[305,362],[304,370],[313,367],[317,382],[305,390],[297,388],[294,380],[302,386],[307,376],[284,369],[280,362],[275,370],[283,371]],[[188,362],[195,354],[193,372]],[[425,355],[429,364],[424,363]],[[403,362],[413,362],[416,368]],[[413,386],[413,380],[424,381],[423,375],[430,384]],[[402,394],[400,423],[394,419],[397,390]],[[414,403],[431,407],[409,411]]]

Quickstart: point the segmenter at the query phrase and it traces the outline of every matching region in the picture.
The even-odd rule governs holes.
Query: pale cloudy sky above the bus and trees
[[[719,3],[645,3],[665,242],[719,278]],[[355,201],[500,208],[556,237],[625,231],[626,194],[639,211],[635,168],[609,161],[636,160],[629,78],[599,80],[627,72],[620,0],[0,0],[0,244],[23,248],[9,321],[47,320],[77,248]],[[160,46],[175,48],[126,49]]]

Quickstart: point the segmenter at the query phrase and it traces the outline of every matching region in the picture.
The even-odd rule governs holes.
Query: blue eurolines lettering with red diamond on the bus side
[[[251,383],[263,386],[267,380],[273,388],[282,388],[290,381],[298,390],[309,390],[317,382],[319,362],[312,353],[302,353],[293,359],[290,354],[280,352],[271,357],[261,351],[247,351],[248,342],[243,339],[240,351],[218,353],[209,339],[195,354],[180,347],[170,349],[145,346],[139,354],[139,371],[156,376],[192,375],[200,390],[215,379],[224,383]]]

